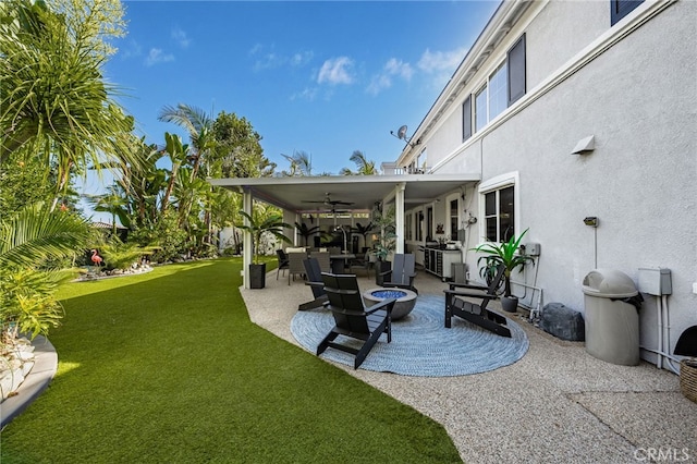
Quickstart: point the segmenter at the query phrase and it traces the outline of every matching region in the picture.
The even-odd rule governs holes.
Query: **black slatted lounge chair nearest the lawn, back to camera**
[[[322,272],[322,282],[329,298],[327,308],[331,310],[335,326],[317,346],[317,355],[328,347],[341,350],[355,355],[354,368],[357,369],[382,333],[388,334],[388,343],[392,341],[392,307],[396,300],[386,298],[366,309],[356,276]],[[339,335],[364,343],[359,349],[337,343],[334,340]]]

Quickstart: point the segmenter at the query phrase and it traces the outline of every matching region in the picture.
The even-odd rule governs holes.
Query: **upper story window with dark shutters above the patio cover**
[[[489,75],[484,87],[465,98],[462,105],[463,142],[473,133],[484,129],[489,121],[501,114],[523,95],[525,95],[525,34],[509,49],[506,59]]]

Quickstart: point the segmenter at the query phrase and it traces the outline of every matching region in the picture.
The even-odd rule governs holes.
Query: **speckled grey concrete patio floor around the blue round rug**
[[[375,279],[359,278],[362,290]],[[424,271],[419,294],[445,284]],[[253,322],[290,343],[310,289],[269,272],[266,289],[241,289]],[[462,377],[406,377],[334,364],[442,424],[467,463],[697,462],[697,404],[678,377],[653,365],[617,366],[513,315],[529,351],[517,363]]]

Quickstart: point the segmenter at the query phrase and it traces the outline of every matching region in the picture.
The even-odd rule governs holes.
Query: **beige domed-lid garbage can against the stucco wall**
[[[584,278],[586,351],[623,366],[639,364],[639,308],[644,300],[627,274],[595,269]]]

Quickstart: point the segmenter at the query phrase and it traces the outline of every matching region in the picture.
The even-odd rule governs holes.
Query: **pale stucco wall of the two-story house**
[[[635,282],[639,268],[670,268],[671,350],[682,330],[697,323],[696,19],[697,3],[670,4],[530,102],[538,85],[610,29],[609,2],[538,3],[510,33],[511,40],[526,34],[527,94],[516,103],[524,108],[504,112],[503,122],[463,144],[458,112],[475,76],[423,139],[429,164],[448,160],[438,173],[480,167],[484,183],[515,173],[516,232],[529,228],[525,242],[542,251],[525,279],[536,276],[545,302],[583,312],[582,282],[596,267],[621,270]],[[571,155],[590,135],[595,150]],[[481,216],[480,197],[472,200],[468,208]],[[597,230],[584,224],[588,216],[599,218]],[[475,242],[484,236],[482,223],[469,230]],[[476,270],[477,256],[466,257]],[[655,297],[647,296],[640,313],[647,347],[657,345],[656,313]]]

